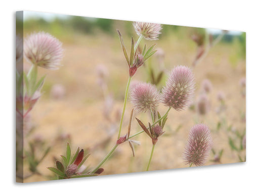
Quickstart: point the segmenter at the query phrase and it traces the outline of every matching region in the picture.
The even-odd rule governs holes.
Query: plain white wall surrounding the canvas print
[[[1,9],[1,193],[259,193],[256,1],[4,1]],[[4,3],[3,2],[3,3]],[[252,2],[252,1],[251,1]],[[192,169],[15,183],[15,11],[40,11],[247,32],[247,162]]]

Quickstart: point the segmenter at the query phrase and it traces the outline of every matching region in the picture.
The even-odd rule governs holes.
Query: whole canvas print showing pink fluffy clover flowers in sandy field
[[[239,31],[17,12],[16,181],[245,162],[245,49]]]

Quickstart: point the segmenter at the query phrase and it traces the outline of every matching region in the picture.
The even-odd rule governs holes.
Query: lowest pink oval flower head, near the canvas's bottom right
[[[212,148],[212,139],[210,130],[205,124],[194,125],[188,136],[184,160],[186,164],[203,166],[209,156]]]

